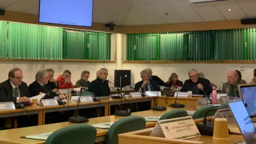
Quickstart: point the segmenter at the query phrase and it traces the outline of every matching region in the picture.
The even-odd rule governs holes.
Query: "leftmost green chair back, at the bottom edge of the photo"
[[[94,144],[97,131],[89,124],[76,124],[53,132],[45,144]]]

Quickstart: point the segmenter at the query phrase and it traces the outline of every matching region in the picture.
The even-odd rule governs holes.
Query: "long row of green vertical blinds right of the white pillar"
[[[256,60],[256,29],[127,34],[124,61]]]

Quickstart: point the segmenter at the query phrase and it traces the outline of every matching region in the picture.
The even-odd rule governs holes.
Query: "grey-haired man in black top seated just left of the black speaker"
[[[106,68],[100,69],[98,77],[91,82],[91,84],[88,87],[88,91],[94,93],[95,97],[110,95],[107,77],[108,70]]]

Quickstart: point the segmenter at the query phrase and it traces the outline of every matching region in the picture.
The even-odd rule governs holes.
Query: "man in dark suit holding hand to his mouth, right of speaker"
[[[157,91],[158,90],[158,83],[156,81],[153,81],[149,79],[149,73],[148,70],[142,70],[140,72],[140,77],[142,81],[135,84],[135,90],[141,91],[145,93],[146,91]]]

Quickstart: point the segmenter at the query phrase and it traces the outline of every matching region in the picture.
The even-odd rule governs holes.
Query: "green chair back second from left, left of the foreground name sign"
[[[129,116],[109,127],[106,144],[118,144],[118,134],[145,129],[146,120],[140,116]]]

